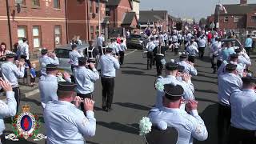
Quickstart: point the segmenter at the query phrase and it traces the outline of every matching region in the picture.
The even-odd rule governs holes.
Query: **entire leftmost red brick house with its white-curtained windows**
[[[0,2],[0,41],[11,49],[26,37],[30,53],[66,44],[66,3],[63,0],[7,0]],[[18,2],[20,11],[18,10]],[[7,10],[10,12],[8,17]],[[10,23],[8,22],[10,20]]]

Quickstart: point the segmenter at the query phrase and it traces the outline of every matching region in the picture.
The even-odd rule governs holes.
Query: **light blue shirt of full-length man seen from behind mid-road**
[[[120,64],[117,58],[114,58],[110,54],[102,55],[100,58],[101,76],[102,77],[115,77],[115,70],[120,68]]]

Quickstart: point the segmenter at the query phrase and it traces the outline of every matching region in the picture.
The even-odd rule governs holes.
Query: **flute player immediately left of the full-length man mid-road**
[[[90,66],[90,69],[86,67]],[[78,58],[78,67],[74,69],[74,79],[77,84],[77,95],[80,98],[93,99],[94,82],[99,78],[98,70],[93,62],[87,62],[87,58]],[[81,105],[81,110],[84,111],[84,106]]]

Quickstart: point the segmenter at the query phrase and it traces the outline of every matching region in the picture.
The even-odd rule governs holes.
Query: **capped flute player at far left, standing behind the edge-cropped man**
[[[24,62],[17,62],[17,65],[14,64],[15,54],[6,54],[6,63],[3,63],[1,66],[2,78],[6,82],[10,82],[10,85],[14,91],[14,97],[17,102],[17,110],[20,103],[20,90],[18,85],[18,78],[24,77]]]

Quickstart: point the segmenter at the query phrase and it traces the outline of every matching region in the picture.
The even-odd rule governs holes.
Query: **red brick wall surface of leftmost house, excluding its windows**
[[[18,26],[26,26],[26,35],[30,45],[30,53],[37,53],[38,48],[34,48],[33,44],[33,26],[40,26],[41,28],[41,46],[49,50],[53,50],[55,46],[54,40],[54,26],[61,26],[62,29],[62,44],[66,44],[66,13],[65,1],[60,0],[60,9],[54,9],[54,0],[39,0],[40,6],[32,6],[30,0],[25,0],[26,5],[22,6],[21,13],[12,13],[16,10],[14,0],[9,0],[10,5],[10,26],[12,31],[12,42],[18,42]],[[9,46],[9,33],[6,16],[6,1],[0,2],[0,39],[6,42]],[[4,8],[5,7],[5,8]],[[3,18],[5,17],[5,18]],[[2,32],[4,31],[4,32]],[[5,33],[5,34],[4,34]]]

